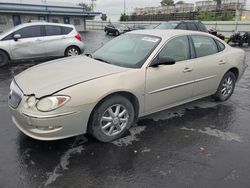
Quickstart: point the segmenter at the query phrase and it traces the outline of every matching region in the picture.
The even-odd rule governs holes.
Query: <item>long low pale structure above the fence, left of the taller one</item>
[[[170,13],[186,13],[194,11],[193,3],[175,4],[173,6],[135,8],[134,15],[157,15]]]

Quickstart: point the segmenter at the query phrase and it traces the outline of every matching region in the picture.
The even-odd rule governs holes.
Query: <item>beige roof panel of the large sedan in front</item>
[[[199,35],[206,35],[210,36],[210,34],[207,34],[205,32],[200,32],[200,31],[191,31],[191,30],[179,30],[179,29],[168,29],[168,30],[162,30],[162,29],[149,29],[149,30],[135,30],[129,32],[131,34],[144,34],[144,35],[152,35],[156,37],[160,37],[162,39],[168,39],[173,36],[177,35],[192,35],[192,34],[199,34]]]

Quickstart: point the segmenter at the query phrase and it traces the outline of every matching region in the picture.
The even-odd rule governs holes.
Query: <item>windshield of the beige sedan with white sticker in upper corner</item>
[[[124,34],[111,40],[91,56],[112,65],[140,68],[160,41],[155,36]]]

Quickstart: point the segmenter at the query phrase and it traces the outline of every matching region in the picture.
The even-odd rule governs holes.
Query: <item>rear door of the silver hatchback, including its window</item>
[[[68,47],[68,40],[72,36],[68,35],[72,32],[71,27],[62,27],[54,25],[45,25],[45,44],[47,56],[64,56],[64,52]]]

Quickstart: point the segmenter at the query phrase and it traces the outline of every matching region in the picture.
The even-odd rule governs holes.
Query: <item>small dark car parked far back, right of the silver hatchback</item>
[[[128,31],[131,31],[131,29],[124,24],[109,24],[104,28],[104,32],[107,35],[113,34],[115,36],[119,36],[120,34],[126,33]]]

